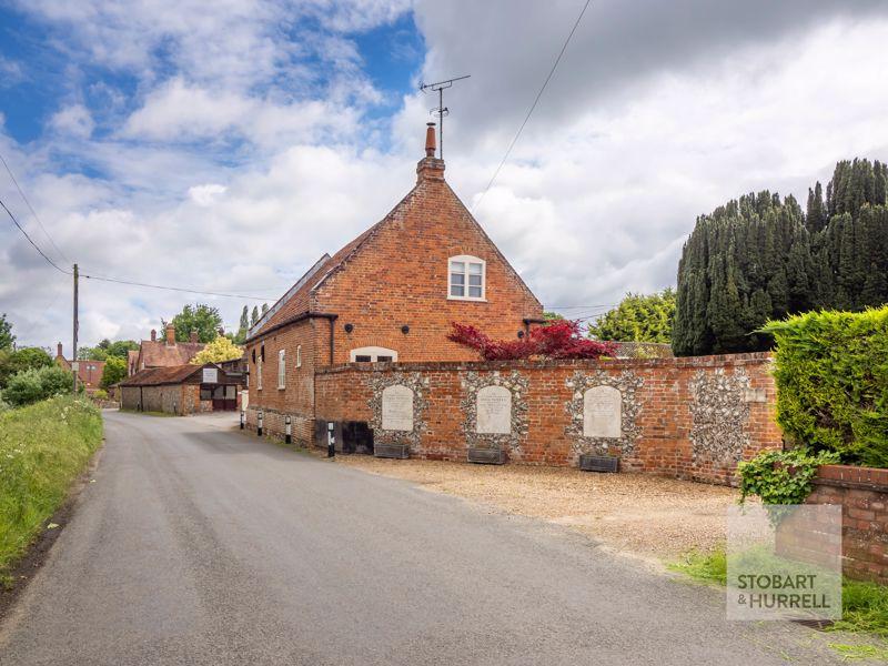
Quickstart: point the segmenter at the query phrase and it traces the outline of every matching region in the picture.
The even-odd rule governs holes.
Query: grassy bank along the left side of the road
[[[60,396],[0,413],[0,587],[102,442],[85,397]]]

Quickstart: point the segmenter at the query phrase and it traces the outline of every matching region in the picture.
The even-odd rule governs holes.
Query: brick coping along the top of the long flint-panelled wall
[[[586,369],[619,369],[619,367],[725,367],[761,363],[770,361],[770,352],[749,352],[745,354],[719,354],[713,356],[673,356],[668,359],[552,359],[545,361],[414,361],[404,363],[341,363],[327,365],[315,370],[316,374],[334,374],[340,372],[359,371],[375,372],[381,370],[393,371],[445,371],[445,370],[521,370],[546,367],[586,367]]]

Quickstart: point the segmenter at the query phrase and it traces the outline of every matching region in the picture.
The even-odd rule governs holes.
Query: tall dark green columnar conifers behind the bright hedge
[[[697,219],[678,264],[677,355],[765,350],[768,320],[888,302],[888,167],[836,164],[826,192],[746,194]]]

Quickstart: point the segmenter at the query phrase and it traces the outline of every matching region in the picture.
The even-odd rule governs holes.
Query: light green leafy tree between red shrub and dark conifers
[[[614,342],[669,342],[675,316],[675,291],[628,293],[619,304],[589,324],[589,334]]]

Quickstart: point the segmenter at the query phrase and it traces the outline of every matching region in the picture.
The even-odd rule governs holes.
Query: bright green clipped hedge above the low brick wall
[[[809,312],[764,331],[777,343],[777,422],[787,437],[888,467],[888,306]]]

